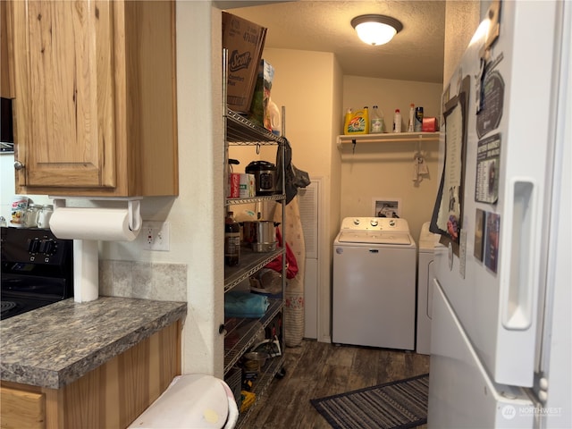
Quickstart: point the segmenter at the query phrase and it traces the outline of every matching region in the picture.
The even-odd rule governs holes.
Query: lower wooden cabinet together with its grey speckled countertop
[[[185,313],[184,303],[105,297],[3,321],[0,425],[127,427],[181,374]]]

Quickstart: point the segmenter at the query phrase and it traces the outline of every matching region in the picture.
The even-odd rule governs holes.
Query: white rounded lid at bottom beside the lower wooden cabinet
[[[239,409],[229,386],[206,374],[173,378],[166,391],[135,419],[130,428],[230,429]]]

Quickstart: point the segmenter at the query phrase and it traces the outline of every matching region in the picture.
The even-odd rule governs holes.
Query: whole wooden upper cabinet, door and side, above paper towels
[[[174,2],[11,8],[16,192],[177,195]]]

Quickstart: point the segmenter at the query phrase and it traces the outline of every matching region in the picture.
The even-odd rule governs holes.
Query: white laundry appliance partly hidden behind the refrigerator
[[[429,223],[419,233],[417,264],[417,339],[416,352],[431,354],[431,319],[433,317],[433,254],[439,246],[439,234],[429,231]]]

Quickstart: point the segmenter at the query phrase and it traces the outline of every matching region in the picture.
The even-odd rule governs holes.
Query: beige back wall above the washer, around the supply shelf
[[[442,85],[407,80],[383,80],[344,76],[343,105],[354,110],[364,105],[383,109],[386,128],[391,127],[393,112],[399,108],[402,127],[407,126],[409,105],[424,107],[425,116],[439,117]],[[342,130],[344,110],[338,112]],[[423,151],[429,174],[416,184],[413,178],[414,154]],[[431,219],[438,188],[437,142],[362,143],[355,152],[351,145],[341,148],[341,222],[344,217],[372,216],[373,198],[400,198],[401,217],[417,241],[421,226]]]

